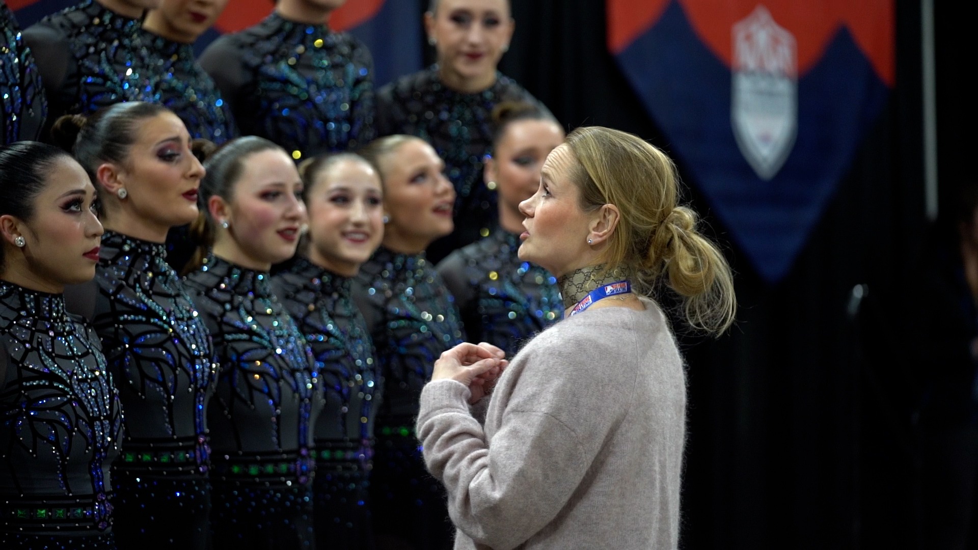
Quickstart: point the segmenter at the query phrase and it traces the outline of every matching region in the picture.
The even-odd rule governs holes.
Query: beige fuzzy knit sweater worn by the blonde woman
[[[455,548],[678,547],[686,380],[662,312],[645,308],[593,309],[526,344],[484,425],[462,384],[424,388],[418,434]]]

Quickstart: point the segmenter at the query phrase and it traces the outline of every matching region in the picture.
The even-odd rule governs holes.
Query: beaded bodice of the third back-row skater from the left
[[[193,44],[174,42],[140,29],[140,86],[143,101],[158,103],[179,116],[191,137],[220,145],[237,135],[231,109],[214,80],[197,63]]]

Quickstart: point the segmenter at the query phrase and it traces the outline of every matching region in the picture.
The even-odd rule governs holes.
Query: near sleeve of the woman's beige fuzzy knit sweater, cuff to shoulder
[[[462,384],[437,381],[422,391],[418,435],[428,470],[447,489],[456,527],[494,550],[554,522],[628,408],[632,391],[622,389],[634,387],[636,373],[614,357],[629,344],[569,336],[527,344],[513,360],[510,382],[492,396],[502,400],[490,415],[502,418],[491,441]]]

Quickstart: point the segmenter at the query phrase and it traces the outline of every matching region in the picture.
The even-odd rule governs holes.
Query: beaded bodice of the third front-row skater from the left
[[[187,285],[220,363],[208,409],[215,463],[220,455],[247,452],[308,456],[323,404],[321,381],[269,274],[211,254],[187,276]]]

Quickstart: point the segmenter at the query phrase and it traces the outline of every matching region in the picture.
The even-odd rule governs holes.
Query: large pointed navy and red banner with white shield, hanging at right
[[[894,84],[892,0],[607,0],[608,48],[777,282]]]

